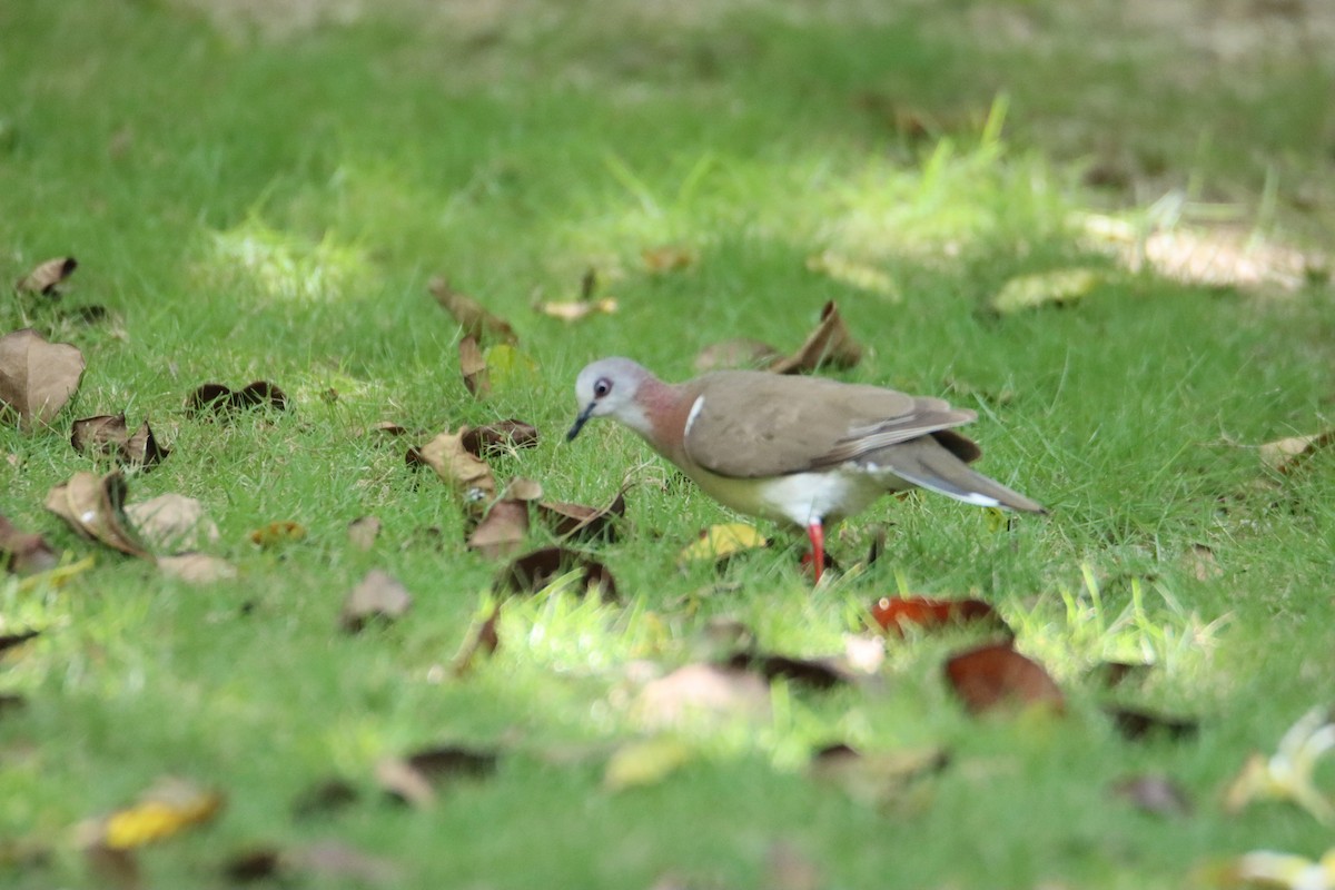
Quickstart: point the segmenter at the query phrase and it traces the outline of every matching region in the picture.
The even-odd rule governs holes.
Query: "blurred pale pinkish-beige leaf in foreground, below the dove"
[[[650,727],[678,726],[697,719],[769,717],[769,685],[750,671],[717,664],[686,664],[646,683],[634,701],[634,715]]]

